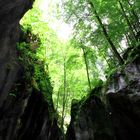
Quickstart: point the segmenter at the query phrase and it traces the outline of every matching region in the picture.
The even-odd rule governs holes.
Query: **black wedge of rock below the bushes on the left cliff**
[[[28,105],[21,118],[17,140],[60,140],[60,129],[50,105],[38,91],[33,90]]]

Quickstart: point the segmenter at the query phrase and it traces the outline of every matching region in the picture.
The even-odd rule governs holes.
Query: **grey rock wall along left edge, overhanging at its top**
[[[20,77],[16,42],[19,40],[19,21],[32,7],[33,0],[0,0],[0,139],[13,139],[22,102],[9,97],[10,90]]]

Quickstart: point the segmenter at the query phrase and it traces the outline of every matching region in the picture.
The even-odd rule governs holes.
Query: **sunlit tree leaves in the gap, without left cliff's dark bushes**
[[[121,50],[119,44],[122,40],[126,41],[124,36],[129,32],[129,26],[117,0],[64,0],[60,5],[58,1],[52,0],[45,20],[38,8],[38,0],[34,8],[21,21],[24,28],[30,29],[40,38],[40,47],[37,48],[36,56],[44,62],[44,67],[47,67],[46,64],[49,66],[51,84],[54,87],[53,99],[58,112],[62,111],[64,88],[66,88],[65,115],[69,114],[70,110],[67,106],[70,106],[71,100],[80,99],[89,91],[82,49],[85,51],[92,88],[98,84],[99,79],[105,80],[105,73],[109,73],[117,64],[101,25],[89,4],[91,1],[108,36],[118,51]],[[127,0],[122,2],[130,21],[135,21],[131,10],[138,13],[138,0],[131,0],[131,6],[128,5]],[[58,36],[58,30],[63,27],[63,24],[53,28],[53,22],[60,21],[58,19],[67,21],[73,27],[71,40],[64,40],[62,36]],[[58,24],[60,23],[63,22]],[[63,36],[66,32],[62,33]],[[66,85],[63,83],[64,67]],[[41,79],[38,68],[35,73],[38,79]],[[40,83],[44,86],[44,83]]]

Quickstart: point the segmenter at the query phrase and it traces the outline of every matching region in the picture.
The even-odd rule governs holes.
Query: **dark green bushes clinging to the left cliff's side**
[[[24,36],[26,37],[26,40]],[[28,29],[25,33],[23,32],[23,37],[17,44],[19,60],[23,65],[25,72],[24,80],[29,87],[44,93],[44,97],[49,101],[52,95],[52,86],[46,69],[47,65],[45,61],[41,60],[40,57],[36,55],[36,49],[38,47],[34,48],[34,43],[39,45],[40,39],[38,36],[31,33],[31,29]]]

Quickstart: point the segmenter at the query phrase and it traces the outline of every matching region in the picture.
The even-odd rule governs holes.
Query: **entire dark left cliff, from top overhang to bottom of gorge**
[[[29,87],[18,60],[19,21],[33,1],[0,0],[0,140],[60,139],[51,96],[48,103],[41,91]]]

